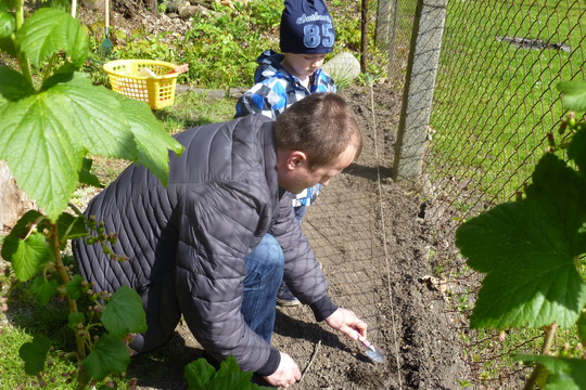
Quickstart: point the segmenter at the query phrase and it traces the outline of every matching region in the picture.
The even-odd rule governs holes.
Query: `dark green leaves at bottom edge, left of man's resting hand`
[[[186,366],[189,390],[257,390],[270,389],[251,382],[253,373],[241,372],[234,356],[228,356],[216,369],[205,359]]]

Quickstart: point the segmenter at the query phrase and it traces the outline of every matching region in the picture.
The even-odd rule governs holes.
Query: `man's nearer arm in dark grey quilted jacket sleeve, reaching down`
[[[176,259],[177,297],[198,341],[218,360],[233,355],[243,370],[272,374],[279,352],[256,335],[241,314],[244,258],[254,245],[257,211],[234,185],[193,190],[177,210],[180,240]]]

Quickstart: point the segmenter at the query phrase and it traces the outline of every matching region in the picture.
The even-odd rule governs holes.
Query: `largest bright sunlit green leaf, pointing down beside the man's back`
[[[168,148],[182,146],[162,130],[152,112],[142,106],[125,112],[136,106],[130,100],[120,104],[119,96],[76,74],[66,83],[0,105],[0,159],[51,220],[66,208],[88,152],[139,159],[166,183]]]

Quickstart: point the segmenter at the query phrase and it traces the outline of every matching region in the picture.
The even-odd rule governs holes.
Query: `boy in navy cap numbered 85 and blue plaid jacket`
[[[285,0],[280,26],[282,54],[267,50],[258,56],[256,83],[238,101],[235,117],[257,113],[276,119],[286,107],[311,93],[336,92],[333,79],[321,69],[334,41],[332,17],[323,0]],[[293,197],[295,218],[300,222],[320,188],[317,184]],[[277,303],[296,306],[301,302],[283,282]]]

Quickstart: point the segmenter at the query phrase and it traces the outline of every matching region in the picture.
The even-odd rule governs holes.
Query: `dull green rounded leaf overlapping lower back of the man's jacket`
[[[142,300],[137,291],[122,286],[107,302],[102,313],[102,323],[115,337],[146,332],[146,320]]]

